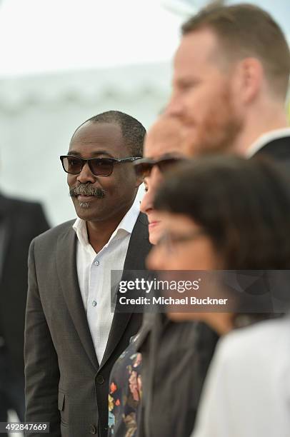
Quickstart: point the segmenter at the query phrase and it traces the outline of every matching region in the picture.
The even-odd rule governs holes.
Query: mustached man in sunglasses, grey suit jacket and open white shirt
[[[26,421],[49,422],[54,437],[106,436],[109,373],[141,324],[140,314],[111,313],[110,270],[145,268],[148,223],[131,165],[144,134],[119,111],[76,129],[61,160],[79,218],[31,243]]]

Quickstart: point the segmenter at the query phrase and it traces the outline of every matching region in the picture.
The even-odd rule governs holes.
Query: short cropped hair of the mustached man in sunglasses
[[[124,143],[128,147],[131,156],[143,156],[143,144],[146,135],[146,129],[140,121],[134,119],[121,111],[106,111],[92,116],[82,123],[76,131],[84,124],[91,121],[91,123],[112,123],[117,124],[121,128]],[[74,136],[73,134],[73,136]]]

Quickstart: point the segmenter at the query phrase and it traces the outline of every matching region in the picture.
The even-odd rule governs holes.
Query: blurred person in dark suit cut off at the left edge
[[[0,421],[24,420],[24,316],[29,244],[49,225],[40,204],[0,194]]]

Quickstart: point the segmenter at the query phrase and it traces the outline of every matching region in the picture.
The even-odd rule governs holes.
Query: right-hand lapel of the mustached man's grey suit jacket
[[[146,269],[145,258],[151,248],[148,238],[148,221],[146,216],[140,213],[131,233],[122,279],[124,279],[125,276],[127,279],[129,273],[126,271]],[[121,340],[131,316],[132,313],[114,313],[108,343],[106,345],[106,350],[101,361],[100,368],[104,366],[104,363],[106,363],[106,361],[109,359],[111,353],[113,353],[117,344]]]

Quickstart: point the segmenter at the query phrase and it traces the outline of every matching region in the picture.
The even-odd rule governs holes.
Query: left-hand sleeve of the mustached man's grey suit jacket
[[[35,241],[32,241],[29,248],[29,291],[24,341],[26,421],[49,422],[49,435],[60,437],[59,366],[39,296],[34,245]],[[26,433],[26,436],[38,435]]]

